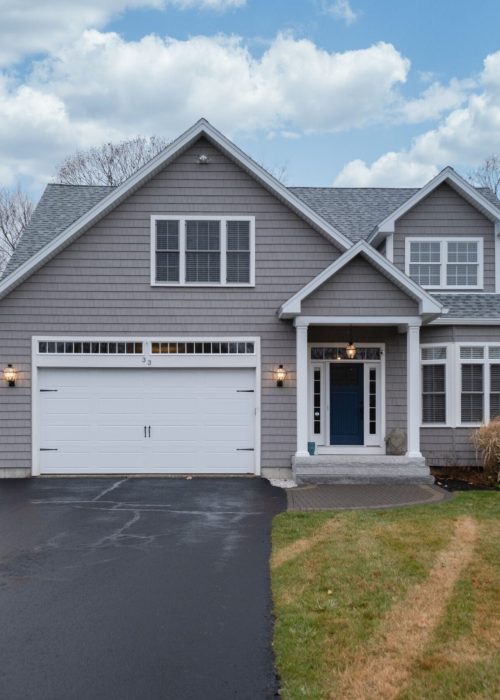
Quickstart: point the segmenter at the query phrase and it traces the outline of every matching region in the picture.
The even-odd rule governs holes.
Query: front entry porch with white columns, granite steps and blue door
[[[420,323],[295,319],[297,483],[432,483],[420,453]]]

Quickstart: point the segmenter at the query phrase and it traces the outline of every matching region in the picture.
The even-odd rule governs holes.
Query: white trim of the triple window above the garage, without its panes
[[[156,222],[179,222],[179,282],[158,282],[156,279]],[[220,282],[186,282],[186,221],[220,221],[220,256],[221,256],[221,281]],[[250,281],[226,282],[227,262],[227,234],[228,221],[250,222]],[[255,216],[241,214],[241,216],[223,216],[220,214],[152,214],[150,236],[150,267],[152,287],[255,287]]]

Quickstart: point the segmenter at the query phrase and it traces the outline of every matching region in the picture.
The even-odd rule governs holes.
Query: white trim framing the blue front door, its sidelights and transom
[[[316,454],[385,454],[385,343],[356,343],[358,348],[380,348],[380,360],[341,360],[343,364],[364,365],[364,444],[363,445],[329,445],[330,434],[330,395],[329,395],[329,371],[327,366],[335,360],[313,360],[311,359],[311,348],[313,347],[337,347],[340,342],[308,343],[308,440],[316,443]],[[321,433],[314,434],[314,406],[313,406],[313,371],[321,368]],[[375,435],[369,434],[369,410],[368,410],[368,372],[370,368],[377,370],[377,432]]]

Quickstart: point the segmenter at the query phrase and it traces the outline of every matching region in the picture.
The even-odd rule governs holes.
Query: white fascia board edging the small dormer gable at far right
[[[375,242],[381,234],[394,233],[396,221],[406,214],[410,209],[413,209],[424,197],[427,197],[436,187],[443,184],[443,182],[448,182],[453,189],[458,190],[462,195],[465,195],[466,199],[474,202],[477,207],[488,216],[492,221],[497,223],[500,221],[500,209],[492,204],[486,197],[484,197],[480,192],[476,190],[471,184],[464,180],[464,178],[459,175],[453,168],[446,167],[444,170],[436,175],[436,177],[429,180],[429,182],[422,187],[418,192],[416,192],[412,197],[406,200],[400,207],[396,209],[392,214],[378,224],[376,229],[368,237],[370,243]]]

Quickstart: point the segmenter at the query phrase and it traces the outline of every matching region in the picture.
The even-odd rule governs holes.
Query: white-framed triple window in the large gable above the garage
[[[255,219],[152,216],[151,284],[252,286]]]

